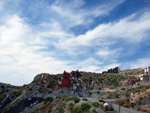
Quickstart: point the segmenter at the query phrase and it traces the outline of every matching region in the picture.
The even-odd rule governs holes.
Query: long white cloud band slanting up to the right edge
[[[114,23],[100,24],[85,34],[65,40],[65,46],[61,43],[59,45],[68,50],[78,46],[91,47],[95,44],[103,46],[103,44],[108,43],[112,45],[117,39],[123,39],[124,42],[139,43],[143,38],[150,35],[150,14],[146,12],[139,18],[129,17]]]

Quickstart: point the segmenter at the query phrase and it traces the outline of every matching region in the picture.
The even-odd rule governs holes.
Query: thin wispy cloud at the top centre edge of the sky
[[[93,19],[102,15],[107,15],[109,11],[123,3],[125,0],[111,0],[105,4],[98,4],[96,7],[83,8],[86,5],[83,0],[58,1],[52,4],[51,8],[61,18],[66,27],[77,25],[87,25],[93,22]],[[67,24],[69,23],[69,24]]]

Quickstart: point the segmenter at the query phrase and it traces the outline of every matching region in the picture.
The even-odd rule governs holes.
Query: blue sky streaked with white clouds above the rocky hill
[[[0,82],[150,66],[150,0],[0,0]]]

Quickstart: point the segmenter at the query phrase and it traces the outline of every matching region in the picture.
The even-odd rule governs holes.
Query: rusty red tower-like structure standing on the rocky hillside
[[[61,85],[62,87],[70,87],[70,84],[71,84],[70,74],[64,71]]]

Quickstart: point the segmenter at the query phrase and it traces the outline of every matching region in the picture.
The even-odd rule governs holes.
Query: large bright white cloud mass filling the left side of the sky
[[[50,51],[40,51],[47,47],[44,37],[50,34],[40,31],[33,33],[32,27],[18,15],[6,18],[5,24],[0,27],[1,82],[22,85],[31,82],[41,72],[71,70],[67,66],[68,61],[56,60],[51,57]]]

